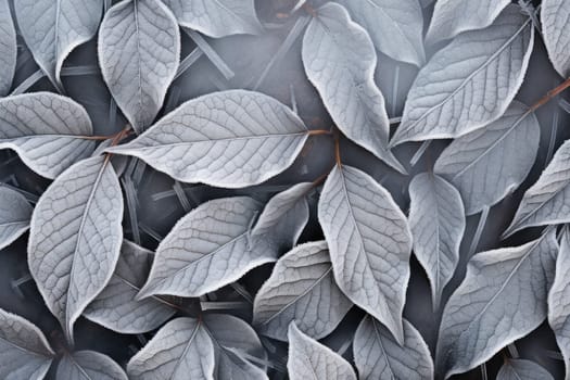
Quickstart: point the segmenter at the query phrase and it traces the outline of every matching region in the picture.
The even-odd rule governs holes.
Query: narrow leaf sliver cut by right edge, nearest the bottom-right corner
[[[563,230],[556,259],[556,275],[548,293],[548,322],[553,329],[566,365],[566,380],[570,380],[570,231]]]

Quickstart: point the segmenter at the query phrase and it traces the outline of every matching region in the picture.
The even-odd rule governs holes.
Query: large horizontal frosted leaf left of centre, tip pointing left
[[[309,131],[290,109],[258,92],[190,100],[134,141],[110,149],[182,182],[240,188],[291,166]]]

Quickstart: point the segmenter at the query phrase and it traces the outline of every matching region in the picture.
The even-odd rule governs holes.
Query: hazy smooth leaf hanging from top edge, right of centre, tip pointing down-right
[[[338,0],[370,35],[378,50],[396,61],[421,67],[423,14],[418,0]]]

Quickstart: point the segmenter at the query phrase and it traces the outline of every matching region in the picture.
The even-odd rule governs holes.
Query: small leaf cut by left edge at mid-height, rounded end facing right
[[[0,250],[28,230],[33,211],[20,192],[0,187]]]

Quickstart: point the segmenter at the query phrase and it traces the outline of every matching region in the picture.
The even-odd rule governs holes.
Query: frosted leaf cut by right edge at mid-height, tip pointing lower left
[[[522,197],[504,237],[534,226],[570,221],[570,140],[555,153],[539,180]]]

